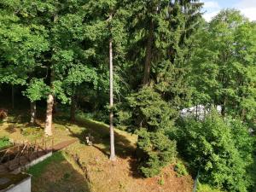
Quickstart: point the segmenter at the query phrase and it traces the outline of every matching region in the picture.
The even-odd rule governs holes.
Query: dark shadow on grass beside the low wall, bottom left
[[[84,175],[74,169],[61,152],[32,166],[27,172],[32,174],[32,192],[90,192]]]

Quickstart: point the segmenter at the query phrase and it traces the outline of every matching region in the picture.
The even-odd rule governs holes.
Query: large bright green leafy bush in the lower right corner
[[[237,119],[211,113],[201,122],[184,119],[178,128],[177,146],[189,165],[200,170],[202,183],[228,191],[247,191],[253,184],[253,139]]]

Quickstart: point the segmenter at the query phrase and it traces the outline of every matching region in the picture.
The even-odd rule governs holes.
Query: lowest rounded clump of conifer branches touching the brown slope
[[[137,146],[146,154],[146,161],[142,162],[140,170],[145,177],[153,177],[160,173],[163,166],[172,162],[176,156],[176,143],[162,131],[148,132],[142,128],[137,134]]]

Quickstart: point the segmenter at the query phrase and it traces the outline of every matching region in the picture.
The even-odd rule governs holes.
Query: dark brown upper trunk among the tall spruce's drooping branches
[[[152,45],[154,41],[154,21],[151,20],[148,34],[148,42],[146,47],[146,56],[144,64],[144,75],[143,75],[143,85],[148,84],[150,75],[150,64],[152,60]]]

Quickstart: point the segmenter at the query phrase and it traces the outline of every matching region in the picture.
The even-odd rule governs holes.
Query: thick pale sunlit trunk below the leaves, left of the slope
[[[47,99],[47,109],[46,109],[46,120],[44,133],[46,136],[52,136],[52,110],[54,105],[54,96],[49,94]]]

